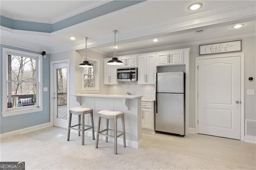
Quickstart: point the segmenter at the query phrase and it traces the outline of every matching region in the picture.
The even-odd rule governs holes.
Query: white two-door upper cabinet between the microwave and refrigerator
[[[155,55],[144,54],[138,56],[138,84],[155,84]]]

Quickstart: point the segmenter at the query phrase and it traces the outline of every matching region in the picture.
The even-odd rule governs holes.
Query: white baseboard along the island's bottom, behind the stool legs
[[[77,130],[70,130],[70,131],[71,131],[71,132],[78,133]],[[85,136],[92,136],[92,131],[87,131],[87,130],[86,130],[86,131],[84,132],[84,135],[85,135]],[[96,132],[94,132],[94,136],[95,136],[95,139],[96,139]],[[100,139],[100,140],[106,140],[106,137],[100,135],[100,136],[99,136],[99,139]],[[108,138],[108,142],[114,142],[114,138]],[[123,138],[117,138],[117,143],[118,143],[118,144],[123,144]],[[133,141],[133,140],[128,140],[128,139],[126,139],[126,146],[130,146],[130,147],[132,147],[132,148],[139,148],[141,145],[142,145],[142,139],[140,139],[138,142]]]

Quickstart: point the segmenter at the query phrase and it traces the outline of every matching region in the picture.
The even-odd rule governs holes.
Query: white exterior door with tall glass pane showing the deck
[[[54,64],[54,126],[67,128],[68,63]]]

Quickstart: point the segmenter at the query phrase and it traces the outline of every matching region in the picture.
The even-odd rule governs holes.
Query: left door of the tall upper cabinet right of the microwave
[[[146,55],[138,56],[138,85],[146,84]]]

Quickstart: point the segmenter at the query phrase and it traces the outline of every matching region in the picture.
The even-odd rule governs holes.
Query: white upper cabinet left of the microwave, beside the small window
[[[108,65],[111,58],[104,59],[104,85],[117,85],[116,65]]]

